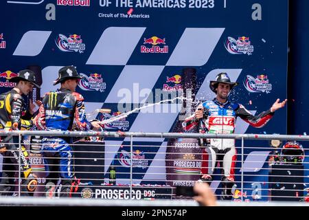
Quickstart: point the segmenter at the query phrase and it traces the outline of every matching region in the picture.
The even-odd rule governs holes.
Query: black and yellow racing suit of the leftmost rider
[[[0,94],[0,129],[29,129],[32,115],[23,111],[24,100],[15,89]],[[17,190],[16,178],[19,177],[19,137],[1,135],[0,148],[3,155],[3,172],[0,181],[0,195],[12,195]],[[27,195],[36,188],[36,178],[29,166],[28,153],[21,146],[21,191]]]

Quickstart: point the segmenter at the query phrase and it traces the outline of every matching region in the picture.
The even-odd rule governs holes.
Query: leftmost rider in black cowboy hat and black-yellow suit
[[[16,83],[16,86],[0,95],[0,129],[29,129],[32,126],[31,118],[34,114],[35,105],[30,100],[30,109],[25,111],[25,115],[23,115],[24,100],[21,95],[28,95],[34,86],[38,88],[40,86],[36,84],[34,72],[29,69],[21,70],[19,76],[10,78],[9,81]],[[41,104],[41,101],[36,101],[36,104]],[[0,182],[0,195],[12,195],[15,190],[16,177],[19,175],[18,143],[18,136],[1,136],[0,153],[3,155],[3,172]],[[36,177],[32,175],[25,147],[22,146],[21,150],[21,190],[33,192],[37,185]]]

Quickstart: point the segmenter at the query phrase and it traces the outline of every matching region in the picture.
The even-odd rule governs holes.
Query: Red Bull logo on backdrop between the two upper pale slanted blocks
[[[152,47],[146,47],[145,44],[150,44]],[[168,46],[165,45],[160,47],[159,45],[165,45],[165,39],[161,39],[157,36],[152,36],[149,39],[144,38],[144,45],[141,45],[141,53],[144,54],[167,54],[168,53]]]

